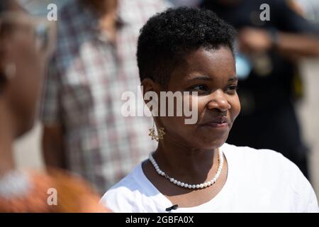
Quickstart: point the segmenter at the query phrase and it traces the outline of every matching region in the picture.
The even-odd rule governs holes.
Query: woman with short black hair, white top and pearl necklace
[[[234,36],[204,9],[168,9],[145,24],[137,54],[143,92],[189,92],[183,99],[198,121],[155,114],[157,150],[101,204],[116,212],[318,211],[313,188],[286,157],[225,143],[240,114]],[[158,109],[167,107],[158,100]]]

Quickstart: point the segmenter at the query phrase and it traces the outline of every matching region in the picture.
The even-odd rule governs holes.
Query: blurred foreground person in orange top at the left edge
[[[104,212],[79,179],[16,170],[13,142],[33,128],[55,26],[15,1],[0,1],[0,212]]]

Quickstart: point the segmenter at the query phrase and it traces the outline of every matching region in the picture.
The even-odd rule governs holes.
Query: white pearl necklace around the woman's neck
[[[155,167],[155,170],[159,175],[169,179],[170,182],[172,182],[173,184],[176,184],[179,187],[184,187],[184,188],[188,188],[188,189],[203,189],[203,188],[210,187],[211,185],[215,184],[218,177],[220,176],[220,173],[223,170],[223,162],[224,162],[223,151],[218,148],[219,165],[218,165],[218,170],[216,172],[215,177],[213,177],[213,179],[211,181],[204,182],[202,184],[186,184],[184,182],[180,182],[177,179],[174,179],[173,177],[169,177],[169,175],[167,175],[165,172],[160,170],[158,165],[157,165],[157,162],[155,161],[152,154],[150,154],[149,160],[152,163],[152,165]]]

